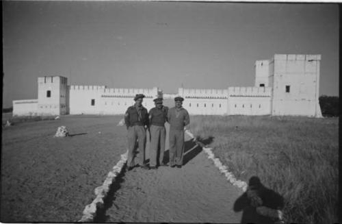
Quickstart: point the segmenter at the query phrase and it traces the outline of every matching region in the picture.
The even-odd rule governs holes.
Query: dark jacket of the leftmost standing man
[[[130,106],[124,114],[124,123],[126,124],[127,128],[133,125],[148,126],[147,109],[141,106],[138,112],[135,105]]]

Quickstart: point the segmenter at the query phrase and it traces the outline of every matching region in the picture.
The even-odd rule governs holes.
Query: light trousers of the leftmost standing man
[[[128,134],[128,155],[127,155],[127,166],[135,166],[134,158],[135,158],[135,145],[138,142],[139,147],[139,158],[140,165],[144,165],[145,162],[145,146],[146,146],[146,130],[142,125],[134,125],[129,127]]]

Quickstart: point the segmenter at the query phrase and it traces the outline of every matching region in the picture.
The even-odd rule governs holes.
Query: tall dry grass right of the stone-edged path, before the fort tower
[[[339,120],[291,116],[192,116],[197,136],[238,179],[253,175],[285,198],[285,221],[337,223]]]

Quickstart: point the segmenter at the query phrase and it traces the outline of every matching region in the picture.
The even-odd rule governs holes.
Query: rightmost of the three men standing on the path
[[[189,113],[182,107],[183,97],[174,98],[174,108],[168,110],[170,123],[170,166],[181,168],[183,165],[184,127],[189,125]]]

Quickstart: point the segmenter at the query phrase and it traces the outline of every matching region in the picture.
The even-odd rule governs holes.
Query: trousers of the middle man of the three
[[[163,163],[165,151],[166,129],[164,126],[150,126],[150,166],[157,166]],[[160,150],[158,150],[160,146]]]

